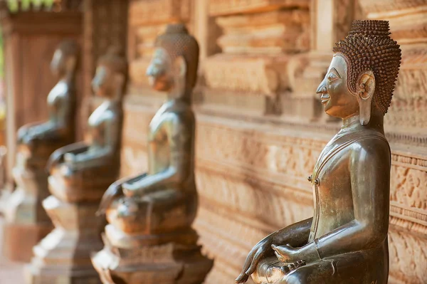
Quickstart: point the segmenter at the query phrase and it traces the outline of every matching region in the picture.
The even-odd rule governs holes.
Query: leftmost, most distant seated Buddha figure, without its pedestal
[[[48,95],[48,120],[29,123],[18,130],[18,148],[28,154],[28,167],[46,167],[53,151],[74,142],[78,53],[75,41],[67,40],[59,44],[51,61],[51,71],[59,81]]]

